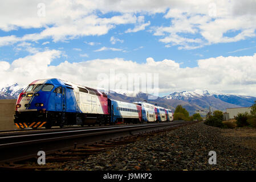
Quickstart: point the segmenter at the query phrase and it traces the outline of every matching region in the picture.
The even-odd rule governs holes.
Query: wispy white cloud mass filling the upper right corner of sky
[[[212,4],[215,6],[210,6]],[[239,4],[237,1],[180,1],[164,16],[170,19],[170,26],[152,27],[152,30],[154,35],[162,36],[160,42],[178,45],[179,49],[255,37],[256,14],[251,10],[256,8],[256,2],[247,0],[243,6]],[[216,16],[211,15],[214,12]],[[236,34],[227,36],[230,32]]]

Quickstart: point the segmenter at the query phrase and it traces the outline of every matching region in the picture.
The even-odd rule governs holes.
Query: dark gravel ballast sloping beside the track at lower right
[[[199,122],[141,137],[79,161],[59,163],[60,168],[53,170],[255,170],[256,148],[240,145],[224,133],[224,129]],[[210,151],[216,151],[217,164],[209,164]]]

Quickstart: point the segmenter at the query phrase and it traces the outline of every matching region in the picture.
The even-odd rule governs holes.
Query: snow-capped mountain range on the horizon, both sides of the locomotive
[[[18,84],[6,86],[0,89],[0,99],[15,99],[24,88]],[[201,115],[205,115],[210,110],[222,110],[230,107],[250,107],[256,101],[256,97],[239,96],[234,94],[224,94],[210,92],[208,90],[194,90],[173,92],[168,96],[156,97],[143,92],[131,92],[126,90],[115,90],[112,92],[103,90],[109,98],[124,102],[147,101],[153,105],[162,106],[174,110],[177,105],[182,105],[189,114],[199,110]],[[154,100],[150,98],[155,97]]]

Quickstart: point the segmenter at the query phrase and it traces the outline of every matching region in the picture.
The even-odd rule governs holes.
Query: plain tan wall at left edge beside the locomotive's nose
[[[0,100],[0,130],[17,129],[14,125],[14,112],[17,100]]]

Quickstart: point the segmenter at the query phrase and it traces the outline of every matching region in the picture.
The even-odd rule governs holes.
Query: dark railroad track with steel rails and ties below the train
[[[78,160],[81,156],[94,154],[108,147],[134,142],[141,134],[151,134],[190,123],[196,122],[176,121],[0,134],[0,168],[6,168],[6,164],[12,166],[14,162],[38,158],[38,151],[44,151],[46,156],[50,156],[47,161]]]

